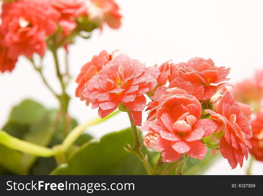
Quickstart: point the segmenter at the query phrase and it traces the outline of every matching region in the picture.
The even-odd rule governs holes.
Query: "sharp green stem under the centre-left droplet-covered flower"
[[[147,155],[143,155],[142,151],[141,151],[141,141],[140,141],[140,137],[138,134],[138,130],[136,125],[134,124],[134,122],[132,121],[131,115],[129,112],[127,112],[129,115],[129,119],[131,122],[131,127],[132,127],[132,135],[133,135],[133,139],[134,139],[134,146],[132,149],[128,149],[129,152],[134,153],[143,163],[144,168],[146,169],[147,173],[149,175],[155,175],[154,171],[152,169],[152,167],[150,166],[150,163],[148,162],[148,157]]]

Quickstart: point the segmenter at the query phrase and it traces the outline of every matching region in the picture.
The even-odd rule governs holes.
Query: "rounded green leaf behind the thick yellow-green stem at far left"
[[[25,100],[15,106],[2,130],[8,134],[42,146],[48,146],[55,132],[56,112],[41,104]],[[0,145],[0,165],[14,174],[28,174],[37,157]]]

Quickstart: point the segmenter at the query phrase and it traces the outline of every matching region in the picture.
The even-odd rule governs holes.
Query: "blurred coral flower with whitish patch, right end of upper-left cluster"
[[[122,16],[114,0],[91,0],[88,15],[91,20],[102,21],[101,28],[104,22],[113,29],[118,29],[121,25]]]

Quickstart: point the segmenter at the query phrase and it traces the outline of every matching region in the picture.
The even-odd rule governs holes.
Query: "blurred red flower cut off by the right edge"
[[[256,114],[256,119],[252,121],[253,137],[250,138],[252,148],[249,152],[259,161],[263,161],[263,111]]]

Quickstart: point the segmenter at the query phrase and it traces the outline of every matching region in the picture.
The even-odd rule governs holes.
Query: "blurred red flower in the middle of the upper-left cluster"
[[[65,36],[77,27],[76,18],[84,15],[88,9],[85,2],[80,0],[53,0],[52,5],[61,14],[59,26]]]

